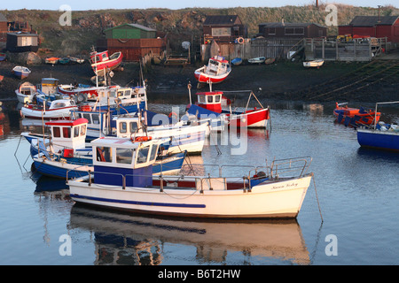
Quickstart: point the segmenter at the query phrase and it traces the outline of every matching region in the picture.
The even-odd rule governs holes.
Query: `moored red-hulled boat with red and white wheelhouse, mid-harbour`
[[[248,97],[246,108],[244,111],[232,111],[231,100],[223,96],[222,91],[209,91],[197,93],[198,103],[190,105],[189,114],[195,114],[198,118],[206,118],[205,116],[226,115],[229,121],[229,126],[236,127],[257,127],[266,128],[268,120],[270,119],[269,106],[264,108],[259,100],[254,96],[254,93]],[[248,109],[251,96],[254,96],[256,101],[261,105],[261,108]],[[229,109],[223,109],[223,106],[228,106]],[[204,111],[201,111],[204,110]]]

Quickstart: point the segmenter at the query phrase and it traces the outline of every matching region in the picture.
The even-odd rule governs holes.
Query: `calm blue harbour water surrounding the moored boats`
[[[194,222],[74,205],[63,180],[32,174],[28,143],[20,139],[27,127],[6,103],[0,264],[399,264],[399,154],[360,149],[353,128],[333,123],[333,103],[270,106],[271,130],[248,130],[245,155],[231,155],[230,144],[207,145],[192,163],[312,157],[317,195],[312,183],[296,221]],[[171,107],[153,103],[150,109]],[[399,122],[397,108],[381,111],[381,120]],[[64,234],[72,240],[71,256],[59,253]]]

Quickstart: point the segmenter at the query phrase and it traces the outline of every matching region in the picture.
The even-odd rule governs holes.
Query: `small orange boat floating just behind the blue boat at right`
[[[375,120],[378,123],[381,116],[380,112],[372,109],[365,109],[364,107],[349,108],[346,103],[335,103],[333,114],[338,123],[345,126],[371,126]]]

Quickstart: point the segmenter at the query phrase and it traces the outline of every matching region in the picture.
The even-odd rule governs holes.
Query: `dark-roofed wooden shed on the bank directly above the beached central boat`
[[[246,38],[247,29],[239,15],[212,15],[204,21],[203,36],[204,42],[229,43],[239,37]]]

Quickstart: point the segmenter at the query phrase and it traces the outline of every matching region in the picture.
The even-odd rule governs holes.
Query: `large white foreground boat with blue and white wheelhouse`
[[[159,144],[106,137],[91,145],[94,171],[67,181],[70,196],[114,210],[190,218],[296,218],[313,175],[306,173],[309,160],[298,158],[275,161],[262,168],[264,173],[257,167],[233,177],[153,177]],[[284,177],[285,169],[292,172],[300,163],[298,174]]]

